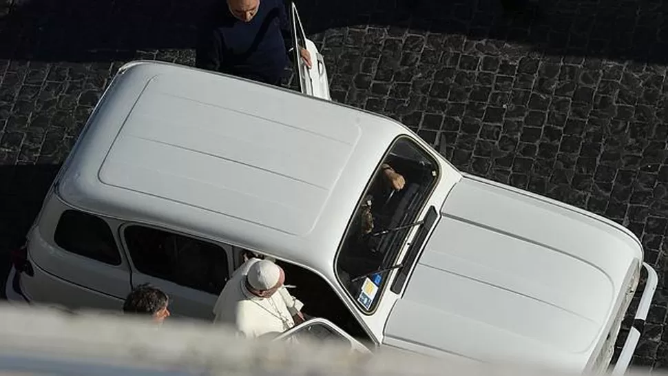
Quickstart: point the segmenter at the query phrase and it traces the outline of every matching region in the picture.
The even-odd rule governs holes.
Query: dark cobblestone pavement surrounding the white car
[[[300,0],[336,101],[402,121],[463,171],[632,229],[660,285],[634,363],[668,366],[668,3]],[[194,0],[0,0],[0,249],[19,244],[125,61],[191,64]],[[547,323],[546,323],[547,324]]]

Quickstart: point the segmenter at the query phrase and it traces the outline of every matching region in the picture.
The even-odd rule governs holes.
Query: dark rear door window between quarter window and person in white
[[[227,282],[227,254],[216,244],[138,225],[123,235],[141,273],[215,295]]]

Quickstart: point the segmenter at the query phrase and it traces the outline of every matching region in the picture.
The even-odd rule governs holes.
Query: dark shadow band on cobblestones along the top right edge
[[[396,36],[408,28],[523,43],[545,54],[668,61],[668,3],[660,0],[540,1],[536,17],[504,14],[499,0],[395,1],[297,0],[309,33],[370,24]]]

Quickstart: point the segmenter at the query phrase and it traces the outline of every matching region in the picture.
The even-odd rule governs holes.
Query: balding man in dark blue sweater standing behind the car
[[[291,48],[283,0],[219,0],[200,27],[195,65],[280,85]],[[300,56],[310,67],[309,52]]]

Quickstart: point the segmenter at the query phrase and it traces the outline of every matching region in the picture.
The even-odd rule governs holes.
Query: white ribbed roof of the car
[[[332,271],[354,207],[406,127],[191,67],[121,67],[59,182],[63,200]],[[327,269],[327,270],[323,270]]]

